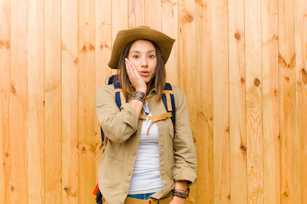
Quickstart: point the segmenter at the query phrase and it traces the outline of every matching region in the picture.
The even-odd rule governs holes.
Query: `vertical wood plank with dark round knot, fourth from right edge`
[[[244,2],[246,66],[247,198],[263,204],[263,135],[260,2]]]

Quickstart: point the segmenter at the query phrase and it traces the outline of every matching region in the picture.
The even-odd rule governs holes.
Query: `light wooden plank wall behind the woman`
[[[176,39],[195,204],[306,204],[306,0],[0,0],[0,203],[95,203],[94,95],[138,25]]]

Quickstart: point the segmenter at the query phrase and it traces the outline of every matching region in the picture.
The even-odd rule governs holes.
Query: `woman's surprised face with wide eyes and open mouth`
[[[134,65],[147,85],[151,85],[157,65],[153,44],[146,40],[135,41],[129,50],[128,60]]]

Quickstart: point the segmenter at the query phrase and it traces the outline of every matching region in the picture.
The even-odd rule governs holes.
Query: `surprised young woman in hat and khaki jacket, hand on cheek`
[[[102,203],[184,204],[187,186],[197,179],[183,91],[172,86],[176,130],[170,117],[151,120],[167,113],[161,99],[164,65],[174,42],[147,26],[122,30],[116,36],[108,66],[118,69],[128,102],[119,110],[113,85],[96,93],[97,115],[107,137],[98,172]]]

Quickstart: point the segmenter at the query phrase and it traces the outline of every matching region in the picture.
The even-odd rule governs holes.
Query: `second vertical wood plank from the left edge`
[[[10,1],[10,202],[28,203],[26,1]],[[20,196],[23,195],[23,196]]]

